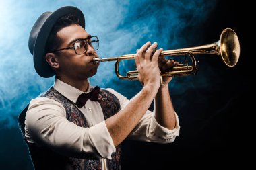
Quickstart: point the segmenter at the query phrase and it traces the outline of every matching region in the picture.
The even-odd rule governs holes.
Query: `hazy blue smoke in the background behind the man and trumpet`
[[[31,99],[46,91],[54,77],[43,79],[34,71],[28,50],[30,29],[39,15],[74,5],[84,12],[86,30],[100,39],[100,57],[133,54],[144,43],[158,42],[170,50],[200,42],[197,27],[207,20],[215,1],[13,1],[0,2],[0,122],[2,127],[17,126],[17,116]],[[195,36],[197,35],[197,36]],[[131,98],[141,85],[138,81],[119,81],[114,62],[100,63],[92,85],[111,87]],[[121,67],[134,69],[133,62]],[[123,69],[121,69],[121,72]],[[186,77],[183,80],[189,80]],[[177,83],[179,80],[179,83]],[[198,83],[197,86],[204,83]],[[184,93],[195,84],[174,79],[170,88]],[[176,90],[177,91],[177,90]]]

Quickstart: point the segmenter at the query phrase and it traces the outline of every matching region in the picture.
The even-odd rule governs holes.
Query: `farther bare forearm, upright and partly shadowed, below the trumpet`
[[[176,125],[174,108],[170,99],[168,84],[159,88],[155,97],[156,121],[161,126],[172,130]]]

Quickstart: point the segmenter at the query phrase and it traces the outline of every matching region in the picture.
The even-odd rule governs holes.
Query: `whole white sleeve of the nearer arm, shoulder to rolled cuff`
[[[104,121],[83,128],[66,118],[63,105],[39,97],[30,102],[25,120],[25,138],[38,146],[82,159],[111,159],[115,152],[113,140]]]

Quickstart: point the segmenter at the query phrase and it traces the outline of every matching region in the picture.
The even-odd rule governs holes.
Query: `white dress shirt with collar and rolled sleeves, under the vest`
[[[77,97],[83,93],[59,79],[55,79],[53,87],[74,103],[77,101]],[[90,83],[88,90],[90,90]],[[117,96],[121,110],[129,103],[126,97],[113,89],[106,90]],[[93,155],[98,159],[103,158],[102,161],[106,161],[104,158],[111,159],[111,154],[115,152],[115,146],[106,128],[100,103],[88,99],[86,105],[79,110],[84,114],[89,128],[82,128],[69,122],[61,103],[46,97],[32,99],[26,112],[26,140],[29,143],[38,144],[38,146],[48,146],[69,157],[78,155],[86,159]],[[179,136],[180,129],[177,114],[176,118],[176,128],[168,130],[156,122],[154,112],[147,111],[128,138],[146,142],[173,142],[175,137]]]

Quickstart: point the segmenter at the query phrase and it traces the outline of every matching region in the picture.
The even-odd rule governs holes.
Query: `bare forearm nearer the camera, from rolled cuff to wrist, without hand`
[[[146,113],[156,95],[154,91],[156,89],[143,87],[123,110],[106,120],[106,127],[115,146],[125,140]]]

